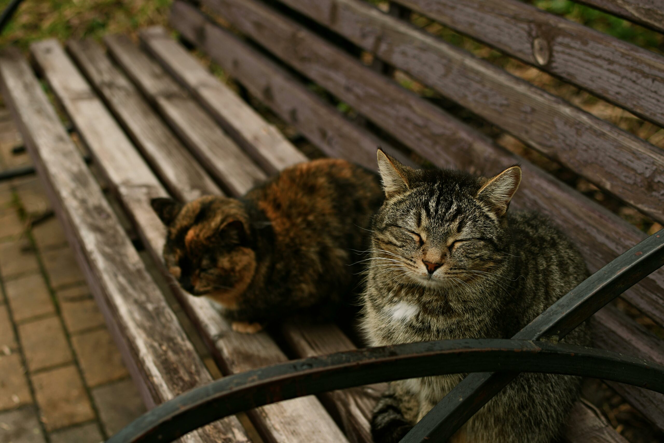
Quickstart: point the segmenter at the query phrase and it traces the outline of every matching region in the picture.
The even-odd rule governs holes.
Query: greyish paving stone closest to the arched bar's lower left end
[[[145,406],[131,379],[92,390],[104,430],[113,435],[145,412]]]

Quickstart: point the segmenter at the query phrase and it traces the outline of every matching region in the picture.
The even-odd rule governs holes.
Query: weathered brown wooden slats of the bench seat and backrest
[[[664,224],[664,151],[416,29],[408,19],[411,10],[426,15],[660,126],[663,56],[515,0],[400,0],[390,13],[362,0],[268,3],[203,0],[203,13],[176,0],[171,25],[325,155],[374,169],[381,145],[402,157],[411,151],[438,167],[487,175],[521,163],[515,207],[550,215],[592,271],[645,238],[595,201],[400,86],[396,69]],[[629,0],[641,9],[621,9],[623,2],[616,0],[586,3],[663,31],[653,14],[661,17],[664,9],[646,10],[653,2]],[[161,264],[165,229],[151,198],[241,195],[307,157],[167,31],[145,29],[140,39],[139,47],[128,37],[108,36],[106,50],[87,40],[68,42],[66,49],[53,40],[35,43],[31,56],[39,74],[8,48],[0,54],[0,84],[132,377],[147,406],[154,406],[211,377],[108,200],[120,202],[142,246]],[[363,54],[373,56],[371,66]],[[82,143],[65,130],[38,75]],[[347,118],[312,91],[314,84],[359,117]],[[82,157],[87,153],[90,166]],[[289,323],[270,333],[238,334],[207,300],[169,288],[224,375],[361,346],[337,325]],[[622,299],[664,326],[663,271]],[[598,311],[593,324],[597,347],[664,363],[661,340],[615,306]],[[664,430],[663,395],[608,384]],[[250,441],[253,427],[266,442],[371,442],[371,408],[382,389],[372,385],[270,404],[248,412],[250,425],[224,418],[182,440]],[[587,401],[576,404],[564,440],[627,441]]]

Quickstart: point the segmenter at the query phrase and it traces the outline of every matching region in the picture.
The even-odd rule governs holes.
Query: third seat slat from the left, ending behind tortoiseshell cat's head
[[[159,175],[168,177],[167,187],[178,199],[189,201],[208,193],[220,192],[193,155],[169,130],[141,96],[141,93],[112,64],[102,46],[92,39],[70,41],[67,49],[90,84],[116,116],[143,156]],[[178,165],[171,167],[172,159]],[[183,183],[175,188],[168,183]],[[186,193],[181,193],[186,189]]]

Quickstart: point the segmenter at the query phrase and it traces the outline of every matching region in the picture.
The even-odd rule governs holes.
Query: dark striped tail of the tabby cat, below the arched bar
[[[388,389],[383,393],[371,417],[371,436],[374,443],[398,443],[412,425],[404,418],[398,397]]]

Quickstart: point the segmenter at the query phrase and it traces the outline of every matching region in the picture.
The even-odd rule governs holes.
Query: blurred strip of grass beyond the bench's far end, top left
[[[4,9],[9,0],[0,0]],[[165,25],[171,0],[25,0],[0,35],[0,46],[25,50],[33,41],[100,38],[133,34],[150,25]]]

